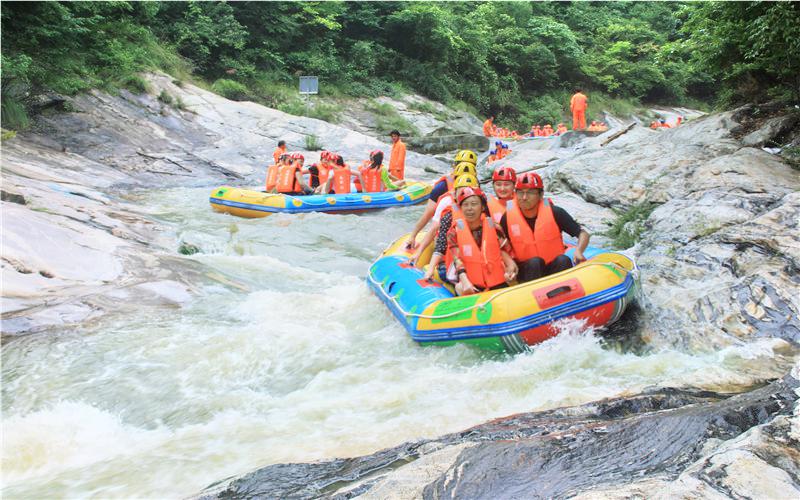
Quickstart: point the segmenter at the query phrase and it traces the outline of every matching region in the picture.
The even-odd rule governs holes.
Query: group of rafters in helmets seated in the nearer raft
[[[425,279],[451,283],[458,295],[505,288],[569,269],[586,260],[589,233],[544,197],[535,172],[520,175],[508,166],[492,173],[494,195],[480,189],[477,155],[459,151],[452,173],[435,184],[425,211],[406,242],[411,262],[434,243]],[[422,241],[417,236],[431,223]],[[573,259],[562,233],[577,238]]]

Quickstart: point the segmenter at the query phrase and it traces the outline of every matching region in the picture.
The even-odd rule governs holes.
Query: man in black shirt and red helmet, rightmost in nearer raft
[[[517,200],[506,205],[500,226],[508,235],[519,265],[519,282],[525,283],[572,267],[564,255],[562,232],[578,238],[574,259],[586,260],[589,233],[566,210],[543,197],[544,183],[539,174],[528,172],[517,178]]]

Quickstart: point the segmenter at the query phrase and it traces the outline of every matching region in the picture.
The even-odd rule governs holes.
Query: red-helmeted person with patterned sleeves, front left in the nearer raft
[[[479,188],[465,187],[453,207],[455,223],[447,233],[457,295],[472,295],[505,288],[517,275],[517,265],[508,254],[508,239],[487,214],[486,197]],[[452,279],[455,278],[455,279]]]

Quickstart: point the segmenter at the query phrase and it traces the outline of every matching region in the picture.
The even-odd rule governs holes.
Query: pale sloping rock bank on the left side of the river
[[[3,334],[80,324],[127,304],[179,305],[225,279],[178,259],[179,243],[127,194],[171,186],[259,185],[277,141],[306,137],[348,162],[386,142],[313,118],[228,101],[167,75],[150,94],[93,92],[42,103],[34,129],[3,143]],[[158,99],[162,92],[181,107]],[[49,106],[49,107],[48,107]],[[407,172],[445,168],[412,151]]]

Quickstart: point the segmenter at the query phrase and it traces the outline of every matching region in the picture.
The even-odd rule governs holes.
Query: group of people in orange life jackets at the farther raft
[[[267,168],[266,191],[289,195],[345,194],[358,192],[395,191],[405,186],[406,146],[400,132],[393,130],[389,166],[383,165],[383,151],[370,152],[358,168],[351,168],[342,155],[321,151],[319,161],[305,165],[302,153],[286,151],[286,141],[278,141],[272,152],[274,164]],[[351,181],[352,185],[351,185]]]

